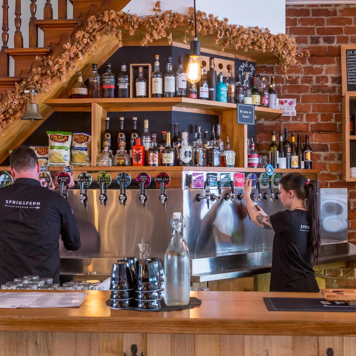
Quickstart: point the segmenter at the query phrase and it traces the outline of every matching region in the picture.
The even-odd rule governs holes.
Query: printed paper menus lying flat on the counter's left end
[[[69,308],[80,307],[87,292],[16,293],[0,292],[0,308]]]

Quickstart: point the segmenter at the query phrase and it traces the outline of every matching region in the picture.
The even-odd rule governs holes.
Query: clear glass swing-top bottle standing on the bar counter
[[[164,302],[167,305],[188,305],[190,293],[190,257],[183,236],[183,218],[174,213],[171,220],[172,239],[164,255],[166,278]],[[178,273],[179,271],[179,273]]]

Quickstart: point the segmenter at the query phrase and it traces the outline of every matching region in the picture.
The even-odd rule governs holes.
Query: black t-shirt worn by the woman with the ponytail
[[[309,248],[308,213],[284,210],[270,216],[275,232],[270,292],[319,292]]]

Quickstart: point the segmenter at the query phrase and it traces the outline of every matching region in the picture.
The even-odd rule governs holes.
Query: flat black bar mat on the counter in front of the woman
[[[356,312],[356,306],[323,298],[267,298],[266,307],[270,312]]]

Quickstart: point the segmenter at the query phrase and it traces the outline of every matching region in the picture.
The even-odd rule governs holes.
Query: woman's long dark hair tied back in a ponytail
[[[309,218],[309,256],[315,265],[318,263],[321,241],[318,195],[314,184],[300,173],[288,173],[279,180],[279,183],[287,192],[293,190],[298,199],[305,200]]]

